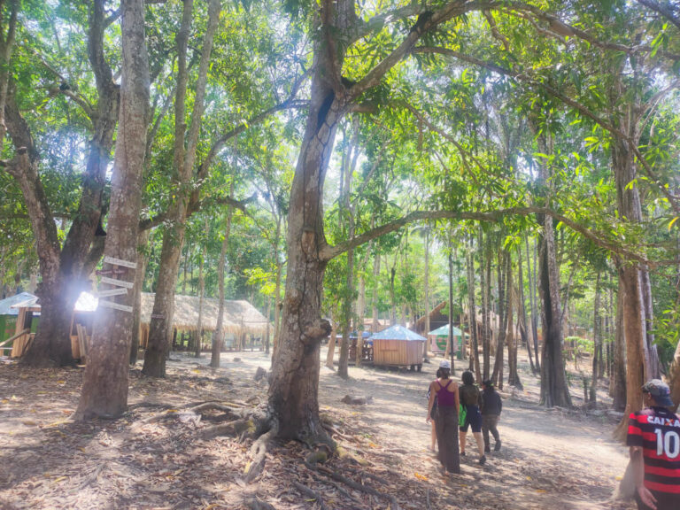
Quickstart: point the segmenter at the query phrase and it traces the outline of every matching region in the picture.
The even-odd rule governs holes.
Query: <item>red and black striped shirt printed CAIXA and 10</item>
[[[631,413],[627,444],[642,447],[647,489],[680,495],[680,416],[665,407]]]

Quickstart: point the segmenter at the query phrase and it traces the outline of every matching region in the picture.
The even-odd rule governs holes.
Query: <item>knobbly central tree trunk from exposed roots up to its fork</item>
[[[319,351],[330,324],[321,319],[326,261],[321,199],[341,104],[324,77],[315,53],[312,97],[298,166],[290,192],[288,271],[280,347],[274,353],[269,404],[279,419],[279,435],[310,444],[327,435],[319,420]],[[324,56],[322,58],[328,58]]]

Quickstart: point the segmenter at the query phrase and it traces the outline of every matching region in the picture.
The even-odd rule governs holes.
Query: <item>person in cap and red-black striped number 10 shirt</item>
[[[680,509],[680,416],[668,384],[653,379],[642,387],[645,409],[630,413],[628,441],[639,509]]]

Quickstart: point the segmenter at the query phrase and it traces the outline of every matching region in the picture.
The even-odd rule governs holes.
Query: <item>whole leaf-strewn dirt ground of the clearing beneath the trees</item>
[[[483,467],[469,437],[461,475],[438,474],[425,422],[433,359],[422,373],[350,367],[349,381],[321,367],[321,413],[336,424],[339,454],[313,468],[304,445],[274,442],[263,473],[246,483],[251,439],[205,439],[220,412],[187,410],[206,401],[263,404],[267,382],[253,375],[269,359],[261,352],[222,359],[213,370],[209,354],[174,353],[165,380],[135,367],[129,412],[84,424],[68,421],[82,368],[0,361],[0,508],[631,508],[610,500],[627,463],[626,449],[610,438],[616,418],[537,406],[537,380],[522,360],[525,389],[503,393],[503,448]],[[578,406],[583,389],[576,372],[570,378]],[[348,394],[373,401],[349,406],[341,402]],[[606,391],[599,398],[607,401]]]

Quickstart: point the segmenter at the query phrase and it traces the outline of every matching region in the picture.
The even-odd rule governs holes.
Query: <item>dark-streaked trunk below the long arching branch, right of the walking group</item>
[[[571,396],[562,356],[560,273],[555,259],[553,218],[544,216],[539,261],[539,294],[543,303],[543,352],[541,363],[541,404],[571,407]]]

